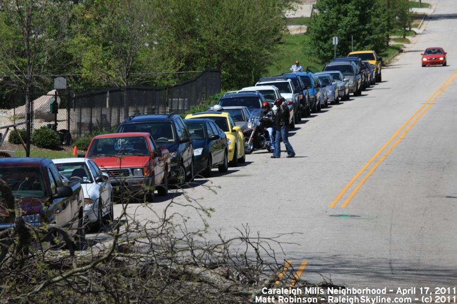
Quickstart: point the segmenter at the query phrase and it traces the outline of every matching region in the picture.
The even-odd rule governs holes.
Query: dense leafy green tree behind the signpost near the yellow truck
[[[320,61],[333,58],[333,36],[338,36],[339,55],[351,51],[351,36],[354,50],[381,53],[386,48],[385,6],[378,1],[318,0],[315,7],[317,13],[307,30],[310,42],[304,49]]]

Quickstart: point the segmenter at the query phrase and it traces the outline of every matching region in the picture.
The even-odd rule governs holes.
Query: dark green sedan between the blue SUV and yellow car
[[[210,119],[186,119],[184,122],[192,140],[195,172],[201,172],[205,177],[211,177],[212,168],[227,172],[228,142],[224,131]]]

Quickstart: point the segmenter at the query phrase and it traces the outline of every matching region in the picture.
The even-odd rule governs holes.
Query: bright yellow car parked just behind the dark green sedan
[[[207,118],[212,120],[227,136],[228,141],[228,161],[232,166],[238,162],[244,163],[246,155],[244,154],[244,135],[241,128],[235,126],[235,122],[227,112],[199,112],[186,116],[185,119]]]

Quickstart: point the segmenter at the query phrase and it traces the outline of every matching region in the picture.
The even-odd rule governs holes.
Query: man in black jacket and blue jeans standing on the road
[[[282,142],[287,150],[287,158],[295,157],[295,152],[293,151],[292,146],[289,143],[288,133],[289,133],[289,108],[281,99],[276,99],[275,105],[278,108],[275,117],[275,127],[276,127],[276,138],[275,138],[275,151],[271,158],[280,158],[281,157],[281,144]]]

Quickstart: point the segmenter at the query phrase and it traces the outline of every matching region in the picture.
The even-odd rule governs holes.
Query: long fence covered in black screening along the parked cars
[[[135,113],[183,113],[219,93],[220,78],[220,70],[208,69],[175,86],[129,86],[75,94],[70,133],[78,138],[93,131],[111,130]]]

